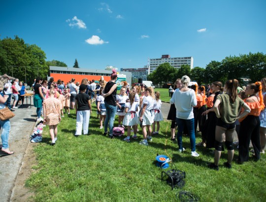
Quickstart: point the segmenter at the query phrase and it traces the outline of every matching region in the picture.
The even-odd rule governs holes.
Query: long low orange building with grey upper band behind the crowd
[[[85,69],[85,68],[73,68],[73,67],[49,67],[48,79],[50,77],[54,78],[54,81],[60,79],[67,83],[71,81],[71,78],[75,78],[75,82],[80,82],[83,78],[87,78],[88,80],[96,80],[98,81],[101,76],[103,76],[105,81],[110,80],[111,70],[104,69]],[[132,73],[127,71],[118,72],[120,74],[125,74],[127,76],[126,81],[131,83],[132,81]]]

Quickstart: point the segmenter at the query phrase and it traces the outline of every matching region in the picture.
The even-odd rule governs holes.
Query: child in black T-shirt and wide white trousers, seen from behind
[[[90,114],[92,113],[92,106],[90,101],[90,96],[86,94],[87,86],[81,84],[79,87],[79,94],[76,96],[75,109],[76,109],[76,133],[75,137],[78,137],[82,134],[83,126],[83,135],[88,135],[89,132],[89,122]]]

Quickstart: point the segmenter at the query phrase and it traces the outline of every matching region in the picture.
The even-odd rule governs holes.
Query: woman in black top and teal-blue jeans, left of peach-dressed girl
[[[40,85],[41,81],[42,79],[36,78],[35,85],[34,85],[35,94],[33,98],[33,104],[35,107],[37,107],[36,109],[37,119],[39,119],[41,116],[42,101],[44,100],[44,96],[42,94],[41,85]]]

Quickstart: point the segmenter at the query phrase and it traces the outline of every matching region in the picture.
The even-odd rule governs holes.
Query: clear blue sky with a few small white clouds
[[[148,58],[266,54],[266,0],[0,0],[0,38],[18,35],[47,60],[138,68]]]

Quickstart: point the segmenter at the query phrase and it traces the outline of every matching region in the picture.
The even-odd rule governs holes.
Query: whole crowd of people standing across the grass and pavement
[[[53,78],[49,81],[35,79],[33,103],[37,120],[49,126],[51,145],[55,145],[57,141],[58,124],[64,114],[70,114],[70,109],[75,109],[76,112],[74,135],[78,137],[89,134],[93,102],[96,102],[97,119],[103,135],[114,138],[114,120],[117,117],[117,127],[127,130],[125,141],[130,142],[131,138],[137,138],[140,125],[143,139],[139,144],[149,145],[148,141],[152,141],[152,137],[159,134],[160,122],[164,120],[160,92],[154,92],[153,88],[145,86],[134,86],[130,89],[125,83],[117,94],[116,79],[115,70],[108,82],[103,77],[99,83],[84,78],[80,84],[75,82],[74,78],[67,84],[61,80],[55,82]],[[207,90],[197,84],[189,88],[189,83],[190,78],[185,75],[176,80],[173,89],[169,89],[171,105],[167,119],[171,120],[170,139],[177,142],[178,151],[182,153],[186,150],[182,144],[182,137],[189,135],[191,156],[199,157],[196,146],[214,148],[214,163],[208,166],[218,170],[225,144],[228,159],[224,166],[231,168],[234,155],[233,136],[236,133],[239,139],[238,163],[248,161],[250,141],[254,158],[259,160],[261,153],[265,153],[266,146],[266,78],[248,84],[245,90],[239,87],[236,79],[228,80],[224,86],[220,81],[215,81]],[[10,82],[2,77],[0,91],[0,109],[5,107],[4,103],[10,109],[16,109],[17,101],[23,104],[23,99],[18,99],[19,94],[26,93],[21,82]],[[10,92],[14,97],[13,107],[11,101],[8,101],[11,98]],[[12,154],[8,147],[10,122],[0,121],[0,125],[4,129],[1,134],[1,150],[6,154]],[[196,144],[197,129],[201,132],[202,140]]]

